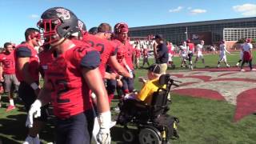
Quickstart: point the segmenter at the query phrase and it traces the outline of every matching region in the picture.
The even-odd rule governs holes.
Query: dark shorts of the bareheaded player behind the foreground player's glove
[[[37,82],[38,83],[38,82]],[[22,98],[26,112],[30,110],[30,106],[36,100],[37,95],[34,94],[32,87],[26,82],[21,82],[18,87],[18,97]],[[36,118],[38,121],[46,122],[48,118],[48,105],[41,107],[41,117]]]

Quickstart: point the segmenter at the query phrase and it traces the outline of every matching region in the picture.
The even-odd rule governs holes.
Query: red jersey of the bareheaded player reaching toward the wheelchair
[[[108,62],[110,56],[116,54],[116,47],[114,45],[103,38],[98,38],[92,34],[84,34],[82,38],[83,42],[88,43],[90,46],[94,47],[94,49],[98,50],[101,54],[101,64],[98,66],[102,78],[104,78],[106,72],[106,63]]]

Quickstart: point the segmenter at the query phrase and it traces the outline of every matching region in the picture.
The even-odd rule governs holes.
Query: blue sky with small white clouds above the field
[[[73,11],[87,30],[102,22],[136,27],[256,17],[255,0],[0,0],[0,47],[24,41],[26,28],[55,6]]]

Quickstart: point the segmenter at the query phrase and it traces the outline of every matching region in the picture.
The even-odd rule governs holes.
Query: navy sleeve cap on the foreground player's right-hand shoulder
[[[100,54],[98,51],[88,51],[85,56],[82,57],[80,66],[88,70],[94,70],[100,64]]]

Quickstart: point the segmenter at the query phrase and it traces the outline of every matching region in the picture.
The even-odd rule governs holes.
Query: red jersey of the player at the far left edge
[[[0,54],[0,62],[2,62],[3,74],[15,74],[14,51],[10,54]]]

